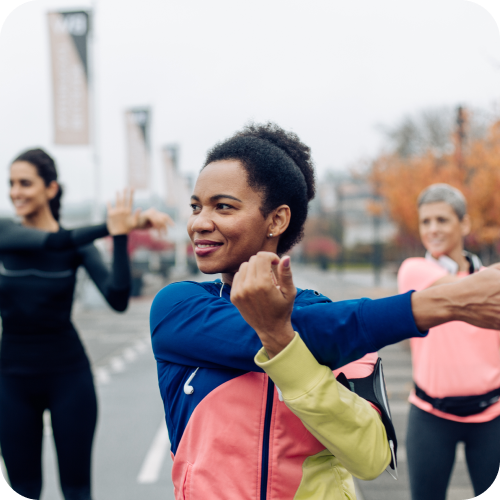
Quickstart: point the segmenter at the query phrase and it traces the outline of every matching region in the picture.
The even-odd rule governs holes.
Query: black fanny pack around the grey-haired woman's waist
[[[478,396],[450,396],[446,398],[432,398],[423,389],[415,384],[415,394],[422,400],[430,403],[436,410],[450,413],[457,417],[477,415],[500,399],[500,387],[486,394]]]

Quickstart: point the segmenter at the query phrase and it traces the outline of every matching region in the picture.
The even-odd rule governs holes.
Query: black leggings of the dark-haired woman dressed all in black
[[[0,447],[12,489],[29,500],[40,498],[45,409],[51,414],[65,500],[91,500],[97,401],[88,368],[36,376],[0,374]]]

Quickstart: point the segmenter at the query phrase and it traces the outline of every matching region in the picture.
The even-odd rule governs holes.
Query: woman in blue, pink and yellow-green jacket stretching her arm
[[[276,125],[207,155],[187,230],[200,270],[222,280],[168,285],[150,315],[176,500],[355,498],[351,474],[393,460],[383,409],[350,390],[373,372],[369,353],[461,314],[432,291],[333,303],[296,289],[283,254],[314,193],[309,147]],[[466,320],[498,322],[500,271],[482,274],[495,292]]]

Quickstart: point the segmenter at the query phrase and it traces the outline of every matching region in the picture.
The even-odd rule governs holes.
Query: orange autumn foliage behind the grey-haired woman
[[[431,184],[445,182],[467,199],[473,239],[492,244],[500,238],[500,121],[490,126],[486,137],[471,141],[461,157],[432,151],[412,158],[381,155],[372,164],[370,181],[402,236],[418,238],[418,195]]]

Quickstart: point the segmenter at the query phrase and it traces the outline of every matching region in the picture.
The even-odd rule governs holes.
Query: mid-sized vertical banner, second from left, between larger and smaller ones
[[[127,127],[128,183],[134,189],[149,189],[149,108],[125,112]]]

